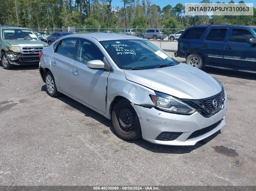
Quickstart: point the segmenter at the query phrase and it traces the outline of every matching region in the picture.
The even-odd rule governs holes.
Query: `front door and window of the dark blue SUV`
[[[255,36],[249,29],[232,29],[223,57],[226,66],[256,69],[256,46],[248,43],[250,38]]]

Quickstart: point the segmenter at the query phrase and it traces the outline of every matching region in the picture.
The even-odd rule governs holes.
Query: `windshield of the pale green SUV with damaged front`
[[[37,36],[29,29],[3,29],[3,39],[38,40]]]

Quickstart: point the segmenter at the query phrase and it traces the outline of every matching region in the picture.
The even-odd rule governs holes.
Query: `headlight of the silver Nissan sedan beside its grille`
[[[150,95],[155,106],[161,110],[171,113],[191,115],[196,110],[181,100],[164,93],[156,92],[156,95]]]

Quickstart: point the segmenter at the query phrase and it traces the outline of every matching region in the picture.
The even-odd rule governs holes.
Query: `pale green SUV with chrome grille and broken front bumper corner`
[[[39,52],[48,44],[39,40],[36,34],[27,28],[0,26],[1,62],[5,69],[14,65],[39,63]]]

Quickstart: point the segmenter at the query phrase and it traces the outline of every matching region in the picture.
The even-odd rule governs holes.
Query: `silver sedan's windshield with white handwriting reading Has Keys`
[[[179,63],[147,40],[108,40],[101,44],[121,69],[152,69]]]

